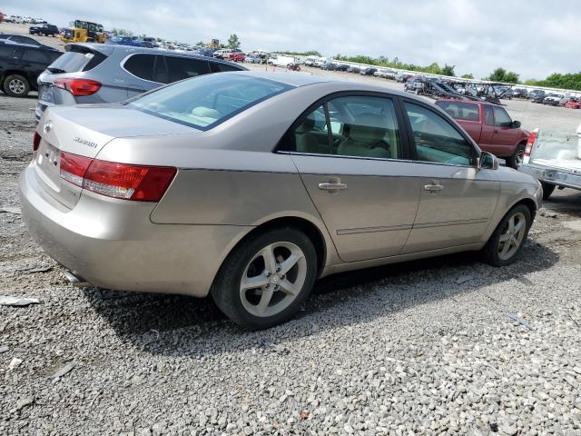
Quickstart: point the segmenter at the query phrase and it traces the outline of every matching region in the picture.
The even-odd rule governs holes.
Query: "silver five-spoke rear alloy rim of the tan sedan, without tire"
[[[307,261],[294,243],[271,243],[252,258],[242,273],[244,309],[257,317],[284,311],[297,298],[307,277]]]

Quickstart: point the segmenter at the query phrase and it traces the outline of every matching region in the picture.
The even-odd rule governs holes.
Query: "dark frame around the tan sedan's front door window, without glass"
[[[440,118],[443,118],[444,121],[448,122],[448,124],[450,124],[456,130],[456,132],[458,132],[458,134],[464,138],[464,140],[468,143],[468,145],[470,145],[472,151],[474,152],[474,156],[472,158],[474,162],[469,164],[469,165],[461,165],[459,163],[420,161],[418,159],[418,151],[416,148],[416,141],[414,139],[413,129],[411,128],[411,123],[409,123],[409,116],[408,116],[408,112],[406,111],[406,106],[405,106],[406,103],[415,104],[417,106],[423,107],[424,109],[433,112],[434,114],[438,115]],[[482,150],[480,150],[480,148],[478,147],[478,144],[476,144],[474,142],[474,140],[468,134],[466,134],[462,130],[461,127],[459,127],[458,122],[454,118],[452,118],[450,115],[448,115],[446,113],[446,111],[439,108],[436,104],[429,105],[429,104],[426,104],[426,103],[421,102],[419,100],[414,100],[414,99],[408,98],[407,96],[401,97],[399,99],[399,104],[400,104],[399,110],[404,115],[405,128],[408,131],[409,153],[410,153],[410,159],[412,162],[423,163],[423,164],[428,164],[428,165],[431,164],[431,165],[457,166],[460,168],[478,168],[478,158],[479,158],[480,154],[482,154]],[[436,108],[436,110],[434,110],[434,108]]]

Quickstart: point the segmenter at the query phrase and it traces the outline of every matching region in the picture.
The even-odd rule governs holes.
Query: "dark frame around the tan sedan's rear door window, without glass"
[[[314,154],[314,153],[301,153],[296,151],[296,143],[294,138],[295,129],[319,106],[323,106],[325,112],[325,118],[327,119],[327,134],[329,138],[329,146],[332,147],[332,133],[330,131],[330,115],[327,108],[327,103],[331,100],[335,100],[340,97],[379,97],[391,100],[393,104],[394,113],[396,115],[396,121],[398,123],[399,131],[399,147],[398,152],[400,157],[393,159],[390,157],[366,157],[366,156],[344,156],[342,154]],[[295,150],[288,150],[288,144],[294,144]],[[287,146],[285,146],[287,145]],[[285,148],[287,148],[285,150]],[[409,133],[405,127],[403,114],[401,113],[401,108],[399,106],[399,95],[382,93],[379,91],[338,91],[335,93],[327,94],[313,104],[310,104],[307,109],[305,109],[297,119],[291,124],[287,131],[281,136],[279,142],[272,149],[272,153],[275,154],[296,154],[301,156],[318,156],[318,157],[333,157],[333,158],[343,158],[343,159],[359,159],[359,160],[372,160],[372,161],[389,161],[389,162],[414,162],[411,159],[409,148]]]

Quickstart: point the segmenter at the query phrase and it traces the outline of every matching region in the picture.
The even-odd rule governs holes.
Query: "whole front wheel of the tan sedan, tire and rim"
[[[514,263],[522,252],[531,224],[530,210],[524,204],[508,211],[482,251],[484,262],[494,266]]]

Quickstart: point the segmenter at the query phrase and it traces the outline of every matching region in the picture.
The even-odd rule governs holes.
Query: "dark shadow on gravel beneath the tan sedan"
[[[557,260],[547,246],[529,239],[521,259],[504,268],[481,263],[478,253],[459,253],[335,274],[316,283],[310,299],[290,322],[261,332],[245,331],[230,322],[211,298],[94,287],[86,288],[84,296],[123,342],[143,352],[192,357],[249,348],[284,352],[285,342],[321,330],[371,322],[495,283],[528,282],[527,273],[548,269]]]

